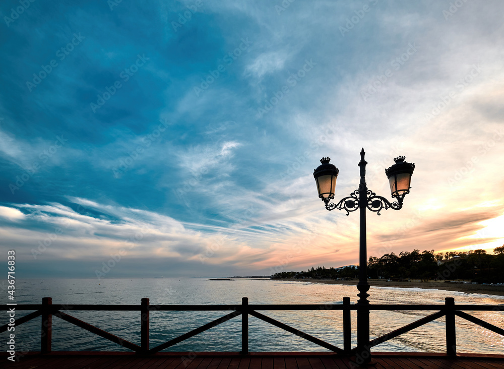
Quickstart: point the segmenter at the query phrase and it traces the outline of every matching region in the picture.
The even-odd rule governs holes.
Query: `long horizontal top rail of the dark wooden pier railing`
[[[0,310],[9,310],[15,307],[16,310],[40,310],[42,304],[18,304],[0,305]],[[369,310],[437,310],[447,309],[445,304],[369,304]],[[504,311],[504,304],[500,305],[455,305],[455,310],[461,311]],[[54,310],[72,311],[141,311],[142,305],[104,305],[104,304],[52,304]],[[249,304],[250,310],[357,310],[359,307],[354,304],[345,306],[343,304]],[[241,310],[241,304],[233,305],[149,305],[150,311],[226,311]]]

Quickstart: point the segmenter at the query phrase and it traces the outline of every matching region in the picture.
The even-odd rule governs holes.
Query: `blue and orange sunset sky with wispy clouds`
[[[4,1],[0,260],[18,278],[225,277],[504,244],[504,2]]]

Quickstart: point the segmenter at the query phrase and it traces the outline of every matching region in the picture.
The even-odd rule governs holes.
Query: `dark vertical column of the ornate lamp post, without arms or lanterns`
[[[367,185],[366,164],[364,149],[360,152],[360,184],[359,184],[359,210],[360,210],[360,242],[359,242],[359,283],[357,289],[359,300],[357,301],[357,354],[364,362],[371,358],[369,342],[369,283],[367,282],[367,242],[366,242],[366,209],[367,209]]]

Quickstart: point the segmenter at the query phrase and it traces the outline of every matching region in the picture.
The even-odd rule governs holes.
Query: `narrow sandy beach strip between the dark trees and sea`
[[[272,281],[295,281],[295,282],[311,282],[325,284],[346,284],[356,286],[358,280],[336,281],[332,279],[271,279]],[[424,289],[441,289],[444,291],[457,291],[465,293],[481,293],[486,295],[504,296],[504,286],[490,286],[481,284],[463,284],[463,283],[445,283],[438,281],[429,282],[386,282],[369,280],[369,285],[372,287],[396,287],[396,288],[424,288]]]

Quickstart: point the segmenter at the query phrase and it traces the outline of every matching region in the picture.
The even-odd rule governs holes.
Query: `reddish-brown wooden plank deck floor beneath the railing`
[[[373,353],[376,369],[382,368],[454,368],[454,369],[504,369],[504,355],[462,354],[455,359],[444,354],[423,353]],[[351,358],[333,353],[306,352],[256,352],[250,355],[238,353],[193,353],[188,357],[181,353],[159,353],[152,356],[138,356],[134,353],[89,352],[52,353],[50,355],[30,354],[17,363],[2,355],[2,367],[25,369],[352,369],[358,367]],[[4,363],[7,365],[4,366]]]

